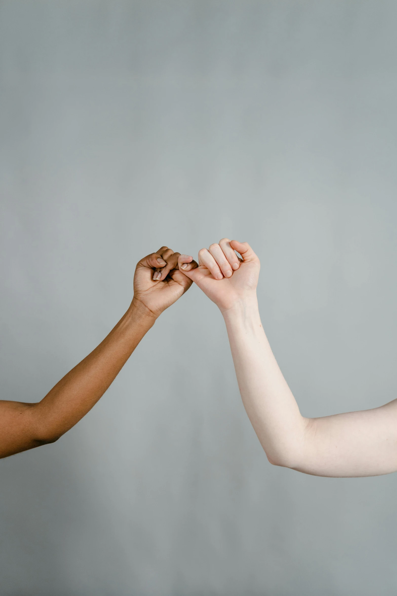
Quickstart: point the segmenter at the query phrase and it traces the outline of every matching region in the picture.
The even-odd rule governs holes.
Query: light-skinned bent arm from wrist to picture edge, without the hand
[[[304,418],[261,325],[256,298],[224,313],[243,404],[268,460],[316,476],[397,470],[397,400]]]

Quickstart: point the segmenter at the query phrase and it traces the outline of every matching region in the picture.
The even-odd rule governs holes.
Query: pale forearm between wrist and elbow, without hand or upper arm
[[[223,313],[243,405],[268,457],[295,467],[308,424],[262,328],[256,296]]]

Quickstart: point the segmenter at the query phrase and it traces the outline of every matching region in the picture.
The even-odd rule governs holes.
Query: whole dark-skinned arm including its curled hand
[[[134,297],[127,312],[42,401],[0,401],[0,458],[53,443],[90,411],[158,316],[192,284],[179,271],[178,257],[179,253],[162,246],[137,263]]]

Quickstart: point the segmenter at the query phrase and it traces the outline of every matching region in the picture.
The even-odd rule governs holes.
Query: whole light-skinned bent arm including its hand
[[[223,315],[242,401],[268,460],[315,476],[397,471],[397,399],[323,418],[299,412],[262,328],[256,293],[260,261],[251,247],[223,238],[199,252],[198,268],[192,262],[181,255],[179,268]]]

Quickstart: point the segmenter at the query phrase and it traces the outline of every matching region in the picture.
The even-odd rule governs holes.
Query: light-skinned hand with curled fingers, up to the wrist
[[[242,258],[237,257],[236,252]],[[195,282],[221,312],[256,294],[260,260],[246,242],[222,238],[199,251],[199,266],[187,254],[179,256],[180,271]]]

